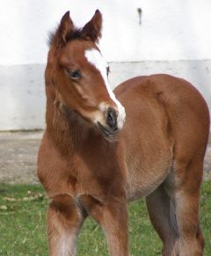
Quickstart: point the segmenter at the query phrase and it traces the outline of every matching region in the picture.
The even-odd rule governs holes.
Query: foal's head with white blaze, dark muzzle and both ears
[[[51,38],[47,67],[62,104],[108,136],[123,127],[125,109],[108,84],[108,64],[97,45],[101,26],[98,10],[80,30],[65,13]]]

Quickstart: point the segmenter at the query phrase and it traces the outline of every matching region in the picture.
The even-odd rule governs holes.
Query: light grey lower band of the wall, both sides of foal
[[[194,84],[211,109],[211,60],[111,62],[110,84],[167,73]],[[44,64],[0,66],[0,130],[45,127]]]

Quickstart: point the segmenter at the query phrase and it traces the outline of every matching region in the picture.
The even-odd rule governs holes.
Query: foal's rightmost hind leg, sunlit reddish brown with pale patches
[[[204,239],[200,230],[199,204],[203,162],[194,157],[187,164],[175,164],[171,191],[176,208],[179,256],[201,256]],[[172,188],[171,187],[171,188]]]

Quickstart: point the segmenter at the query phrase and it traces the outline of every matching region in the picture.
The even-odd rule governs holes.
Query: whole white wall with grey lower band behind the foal
[[[113,86],[165,72],[195,84],[211,107],[210,0],[2,0],[0,130],[44,127],[47,33],[65,11],[83,26],[97,8],[104,17],[100,47],[112,62]]]

